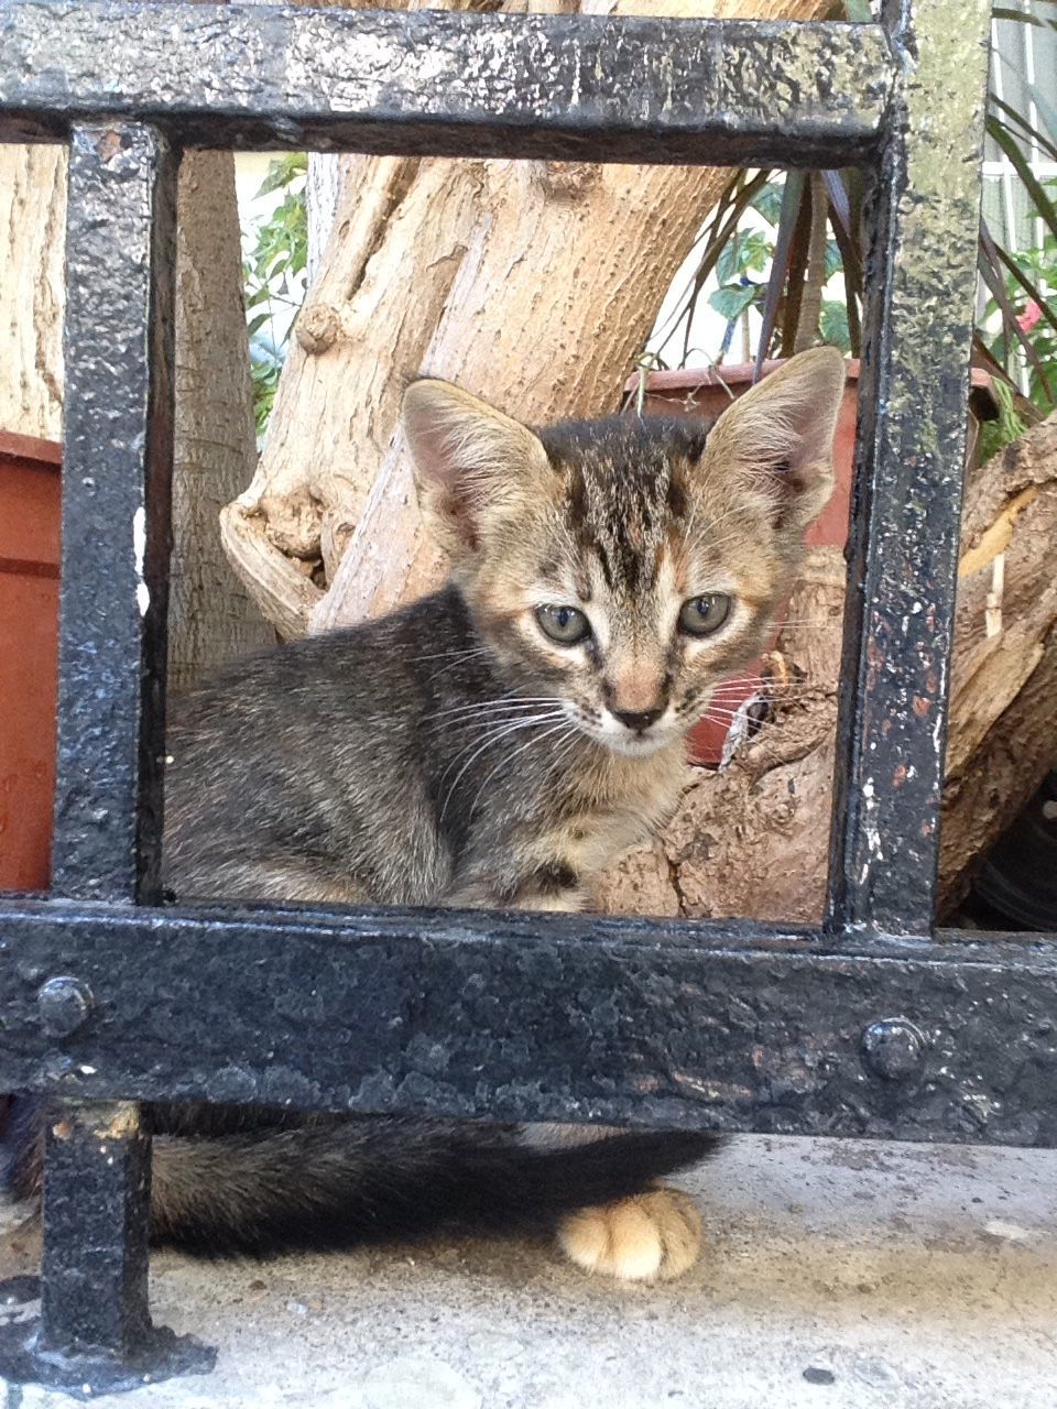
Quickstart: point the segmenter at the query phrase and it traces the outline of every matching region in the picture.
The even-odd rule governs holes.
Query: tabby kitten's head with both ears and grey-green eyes
[[[719,417],[530,431],[435,380],[404,430],[420,502],[513,690],[620,754],[691,728],[764,647],[833,486],[844,364],[792,358]]]

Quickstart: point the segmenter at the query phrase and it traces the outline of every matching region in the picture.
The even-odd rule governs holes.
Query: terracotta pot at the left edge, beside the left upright
[[[0,431],[0,890],[47,890],[55,792],[62,461]]]

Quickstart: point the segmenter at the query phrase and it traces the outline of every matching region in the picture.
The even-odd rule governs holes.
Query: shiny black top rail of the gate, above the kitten
[[[21,0],[0,138],[151,121],[192,145],[847,165],[892,87],[879,25]]]

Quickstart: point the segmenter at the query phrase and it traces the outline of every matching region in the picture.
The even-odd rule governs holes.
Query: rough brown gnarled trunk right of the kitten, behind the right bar
[[[1057,757],[1057,414],[967,485],[940,847],[940,913]],[[612,913],[817,923],[826,890],[844,597],[810,554],[771,665],[771,717],[723,772],[695,769],[671,824],[603,878]],[[1001,586],[996,588],[995,583]],[[782,697],[785,693],[785,699]]]

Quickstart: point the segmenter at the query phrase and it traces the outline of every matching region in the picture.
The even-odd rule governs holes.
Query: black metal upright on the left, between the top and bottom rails
[[[175,192],[163,137],[75,130],[52,889],[86,900],[158,892]]]

